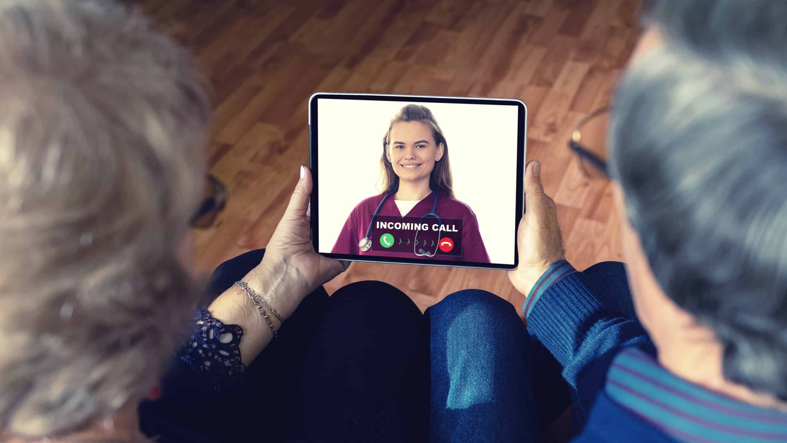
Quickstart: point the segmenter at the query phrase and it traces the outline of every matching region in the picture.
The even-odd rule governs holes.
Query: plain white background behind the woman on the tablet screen
[[[331,251],[361,200],[379,194],[382,136],[410,103],[318,99],[320,252]],[[453,192],[475,212],[491,262],[512,264],[517,107],[417,104],[432,111],[445,134]]]

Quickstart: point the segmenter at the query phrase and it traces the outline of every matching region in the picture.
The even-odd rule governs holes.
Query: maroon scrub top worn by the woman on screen
[[[415,257],[412,253],[405,252],[381,252],[369,249],[366,252],[360,251],[358,243],[366,236],[366,231],[371,222],[371,216],[375,214],[375,210],[385,197],[385,194],[378,194],[362,202],[349,213],[345,225],[342,226],[342,232],[331,250],[334,254],[353,254],[353,255],[375,255],[378,257],[403,257],[412,259]],[[427,214],[432,210],[434,203],[434,196],[430,193],[423,200],[416,203],[407,214],[401,214],[396,202],[393,201],[393,195],[386,200],[382,205],[378,215],[391,215],[402,217],[418,217]],[[475,218],[475,213],[466,204],[457,199],[453,199],[448,195],[438,192],[438,203],[434,210],[441,218],[461,218],[463,221],[462,228],[462,255],[435,255],[434,259],[438,260],[454,260],[457,262],[480,262],[490,263],[490,256],[486,253],[484,241],[481,239],[481,233],[478,232],[478,219]],[[429,259],[430,257],[416,257],[418,259]]]

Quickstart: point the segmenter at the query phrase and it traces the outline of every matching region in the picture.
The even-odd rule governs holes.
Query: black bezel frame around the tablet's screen
[[[516,242],[516,233],[519,229],[519,220],[524,210],[523,178],[525,171],[525,154],[527,150],[527,105],[519,99],[485,99],[480,97],[444,97],[438,95],[386,95],[386,94],[344,94],[333,92],[318,92],[309,99],[309,168],[312,169],[312,244],[315,251],[319,251],[319,225],[320,225],[320,188],[319,156],[317,128],[319,115],[317,114],[318,99],[339,100],[375,100],[375,101],[405,101],[427,103],[469,103],[478,105],[504,105],[517,106],[517,148],[516,148],[516,209],[514,213],[514,232],[511,241],[514,242],[514,264],[508,263],[474,263],[455,262],[453,260],[434,259],[405,259],[401,257],[384,257],[377,255],[334,254],[321,252],[321,255],[332,259],[352,260],[353,262],[397,263],[427,266],[453,266],[465,268],[502,269],[511,270],[519,266],[519,248]]]

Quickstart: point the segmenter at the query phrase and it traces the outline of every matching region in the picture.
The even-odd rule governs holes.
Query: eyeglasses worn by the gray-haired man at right
[[[577,154],[579,169],[590,179],[608,179],[607,121],[611,106],[594,110],[579,121],[568,147]]]

